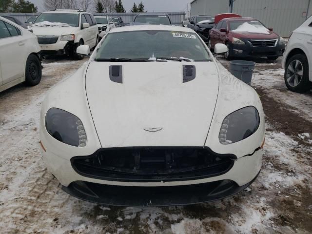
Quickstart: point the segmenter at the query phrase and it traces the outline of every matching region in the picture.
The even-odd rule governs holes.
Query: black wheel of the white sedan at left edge
[[[29,55],[26,61],[25,82],[30,86],[39,84],[41,80],[41,62],[36,55]]]

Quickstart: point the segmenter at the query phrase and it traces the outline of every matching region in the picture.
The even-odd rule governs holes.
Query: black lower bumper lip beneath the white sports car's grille
[[[62,189],[79,199],[104,205],[130,207],[179,206],[212,202],[235,195],[252,184],[259,173],[250,182],[242,186],[238,186],[232,180],[150,188],[75,181],[68,187],[62,186]]]

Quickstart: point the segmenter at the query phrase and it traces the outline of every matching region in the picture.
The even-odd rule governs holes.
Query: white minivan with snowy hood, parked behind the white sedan
[[[79,45],[98,44],[98,26],[93,15],[82,10],[55,10],[41,13],[30,29],[38,38],[41,54],[66,54],[74,59]]]

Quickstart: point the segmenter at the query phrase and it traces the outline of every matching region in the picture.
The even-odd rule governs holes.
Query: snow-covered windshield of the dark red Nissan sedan
[[[248,33],[264,33],[269,34],[269,29],[267,29],[258,20],[250,21],[230,21],[230,31],[233,32],[248,32]]]

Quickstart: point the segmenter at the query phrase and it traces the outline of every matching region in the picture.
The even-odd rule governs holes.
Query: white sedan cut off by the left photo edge
[[[18,24],[0,17],[0,92],[26,81],[41,80],[37,37]]]

